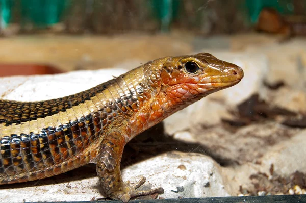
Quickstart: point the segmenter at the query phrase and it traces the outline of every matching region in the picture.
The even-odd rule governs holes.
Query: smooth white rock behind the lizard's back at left
[[[125,73],[125,69],[73,71],[54,75],[0,78],[2,99],[38,101],[59,98],[90,89]]]

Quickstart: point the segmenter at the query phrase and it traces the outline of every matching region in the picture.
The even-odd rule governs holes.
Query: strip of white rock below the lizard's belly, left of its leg
[[[69,173],[71,174],[71,172],[67,174]],[[86,167],[83,173],[86,173]],[[71,180],[69,175],[62,174],[34,182],[4,185],[0,189],[0,199],[5,199],[5,202],[52,202],[90,201],[92,197],[102,197],[98,190],[96,176],[87,176],[83,179],[80,176]],[[40,185],[41,183],[46,183],[46,185]]]

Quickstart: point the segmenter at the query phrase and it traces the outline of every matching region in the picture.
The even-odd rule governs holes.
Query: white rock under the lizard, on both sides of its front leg
[[[86,173],[86,168],[83,173]],[[163,154],[125,168],[122,176],[124,181],[130,180],[130,183],[145,176],[147,181],[141,188],[162,186],[165,192],[160,196],[164,198],[229,196],[218,164],[209,157],[195,153]],[[12,189],[1,189],[0,196],[6,202],[20,202],[23,199],[27,202],[89,201],[92,197],[101,197],[96,176],[69,182],[63,182],[63,176],[54,176],[48,181],[53,184],[35,186],[35,182],[29,182],[30,187],[20,188],[15,184]]]

